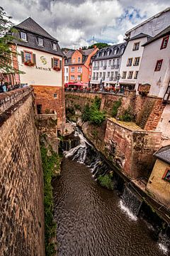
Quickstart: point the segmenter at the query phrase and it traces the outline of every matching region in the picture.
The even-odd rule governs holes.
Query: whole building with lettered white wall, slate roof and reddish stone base
[[[64,113],[64,55],[58,41],[32,18],[17,26],[14,36],[18,55],[21,85],[31,85],[35,92],[38,114],[57,112],[57,127],[63,129]]]

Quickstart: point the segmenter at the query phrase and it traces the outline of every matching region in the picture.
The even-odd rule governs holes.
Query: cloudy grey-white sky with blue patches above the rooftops
[[[169,0],[5,0],[4,10],[20,23],[29,16],[60,46],[121,43],[125,31],[170,6]]]

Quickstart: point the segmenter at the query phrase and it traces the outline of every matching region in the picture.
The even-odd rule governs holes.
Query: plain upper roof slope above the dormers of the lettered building
[[[46,38],[50,38],[52,40],[57,41],[57,39],[50,36],[44,28],[42,28],[38,23],[36,23],[33,18],[26,18],[25,21],[19,23],[18,25],[14,26],[15,28],[20,28],[26,31],[30,31],[32,33],[38,34],[40,36],[44,36]]]

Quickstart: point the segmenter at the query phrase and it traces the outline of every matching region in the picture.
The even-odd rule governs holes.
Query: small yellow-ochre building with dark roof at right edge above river
[[[147,191],[152,193],[167,208],[170,207],[170,145],[159,149],[152,174],[147,183]]]

